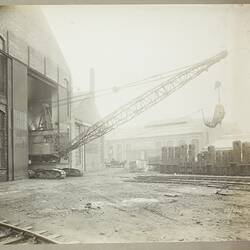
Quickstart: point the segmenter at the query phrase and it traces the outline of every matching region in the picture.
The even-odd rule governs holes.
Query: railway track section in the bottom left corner
[[[32,226],[22,226],[20,223],[10,224],[0,221],[0,246],[14,244],[61,244],[57,238],[61,235],[50,234],[46,230],[33,231]]]

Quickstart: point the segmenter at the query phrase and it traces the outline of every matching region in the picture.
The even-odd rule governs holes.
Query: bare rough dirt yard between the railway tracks
[[[152,174],[152,173],[151,173]],[[0,183],[0,217],[63,235],[65,242],[250,240],[250,192],[127,182],[105,169],[63,180]]]

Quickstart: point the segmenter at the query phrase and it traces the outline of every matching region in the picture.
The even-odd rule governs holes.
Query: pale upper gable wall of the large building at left
[[[15,54],[21,61],[28,61],[27,51],[35,60],[33,68],[44,70],[44,56],[48,57],[50,78],[56,80],[57,72],[52,68],[57,65],[70,75],[56,39],[39,6],[0,6],[0,34],[7,40],[9,36],[9,53]],[[7,34],[8,33],[8,34]],[[55,64],[55,65],[53,65]]]

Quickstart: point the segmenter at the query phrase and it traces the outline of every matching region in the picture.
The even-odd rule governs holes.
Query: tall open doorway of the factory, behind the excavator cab
[[[57,86],[35,75],[28,76],[29,162],[51,160],[58,133]]]

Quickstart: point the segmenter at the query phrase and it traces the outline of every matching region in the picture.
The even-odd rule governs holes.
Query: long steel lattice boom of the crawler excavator
[[[71,152],[72,150],[85,145],[90,141],[99,138],[119,127],[120,125],[130,121],[134,117],[138,116],[165,99],[167,96],[174,93],[176,90],[183,87],[187,82],[193,80],[204,71],[207,71],[212,65],[218,63],[226,56],[227,51],[222,51],[211,58],[189,66],[185,70],[170,76],[160,85],[136,97],[100,121],[96,122],[82,134],[74,138],[65,149],[59,152],[59,154],[61,156],[67,155],[67,153]]]

